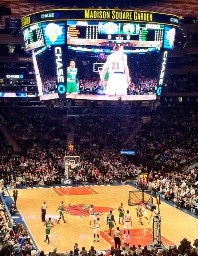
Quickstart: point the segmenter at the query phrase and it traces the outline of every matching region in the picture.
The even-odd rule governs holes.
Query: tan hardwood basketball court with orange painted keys
[[[136,190],[130,185],[121,186],[60,186],[53,188],[30,188],[20,189],[18,194],[17,207],[22,215],[28,230],[32,234],[40,250],[48,253],[56,247],[57,252],[73,250],[75,243],[78,243],[79,249],[85,246],[86,250],[94,246],[95,250],[107,250],[114,245],[113,238],[109,237],[109,228],[106,225],[107,214],[113,210],[116,226],[119,226],[123,234],[123,226],[119,224],[118,207],[121,202],[124,205],[125,212],[130,211],[132,216],[132,229],[130,238],[121,239],[123,242],[141,244],[145,246],[152,242],[152,221],[143,217],[142,226],[138,222],[136,215],[137,206],[129,206],[129,191]],[[9,190],[12,195],[12,190]],[[41,221],[41,204],[46,201],[48,208],[47,218],[51,217],[55,226],[51,228],[49,239],[51,244],[46,244],[45,226]],[[61,201],[65,206],[65,220],[57,225],[55,221],[59,218],[59,211],[56,212]],[[156,204],[155,198],[153,203]],[[93,229],[89,228],[88,208],[93,204],[97,216],[101,220],[100,242],[93,242]],[[147,216],[150,218],[151,212],[147,210]],[[164,246],[179,245],[180,241],[186,237],[191,242],[197,237],[198,219],[194,218],[164,202],[160,205],[160,214],[162,216],[162,243]],[[113,231],[115,230],[113,229]]]

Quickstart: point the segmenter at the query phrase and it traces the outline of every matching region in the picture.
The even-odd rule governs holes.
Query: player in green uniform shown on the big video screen
[[[69,67],[67,67],[67,94],[77,94],[78,84],[76,82],[77,68],[75,68],[75,61],[70,60]]]

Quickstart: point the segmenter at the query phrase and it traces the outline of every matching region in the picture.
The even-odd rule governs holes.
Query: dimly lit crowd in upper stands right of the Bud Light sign
[[[197,157],[197,123],[196,110],[160,110],[137,132],[128,148],[135,149],[141,158],[177,167]]]

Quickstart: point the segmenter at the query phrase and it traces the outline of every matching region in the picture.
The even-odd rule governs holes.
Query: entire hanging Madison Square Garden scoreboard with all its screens
[[[40,100],[156,100],[179,18],[138,10],[57,9],[22,18]]]

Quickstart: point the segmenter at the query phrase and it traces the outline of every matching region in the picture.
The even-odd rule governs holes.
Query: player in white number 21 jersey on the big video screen
[[[100,85],[104,83],[105,74],[109,68],[109,80],[105,90],[107,100],[112,96],[118,96],[121,100],[126,100],[127,87],[131,84],[127,55],[123,53],[123,46],[115,46],[114,53],[107,57],[100,74]]]

